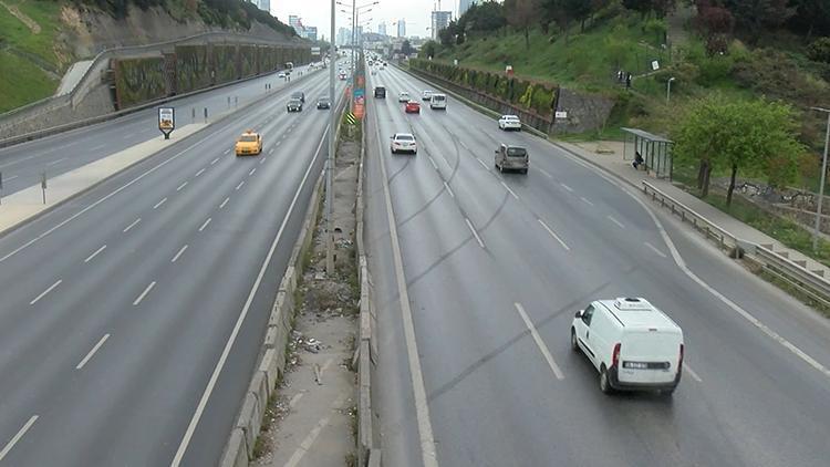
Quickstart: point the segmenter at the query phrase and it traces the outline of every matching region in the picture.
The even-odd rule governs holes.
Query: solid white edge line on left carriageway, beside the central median
[[[305,186],[305,181],[309,178],[309,174],[311,173],[311,169],[314,167],[314,163],[320,156],[320,148],[323,146],[323,143],[326,141],[326,135],[329,134],[331,128],[326,127],[325,132],[323,132],[323,137],[320,139],[320,144],[317,147],[314,157],[311,159],[311,163],[305,169],[305,175],[303,175],[302,180],[300,180],[300,186],[297,188],[297,191],[294,193],[294,197],[288,207],[288,212],[286,214],[286,217],[282,219],[280,229],[277,231],[277,237],[274,237],[273,242],[271,243],[271,248],[268,250],[268,255],[262,261],[262,266],[259,269],[259,274],[257,276],[257,279],[253,281],[251,291],[248,293],[248,299],[245,301],[245,305],[242,305],[242,310],[239,313],[239,318],[237,318],[237,322],[234,325],[234,330],[230,332],[228,342],[225,343],[225,349],[222,349],[222,353],[219,356],[219,361],[216,363],[214,373],[210,375],[210,380],[208,381],[208,384],[205,387],[205,392],[201,394],[201,398],[199,399],[199,404],[196,407],[196,412],[194,413],[193,418],[190,418],[190,423],[187,425],[187,430],[181,437],[181,443],[179,443],[178,449],[176,449],[176,455],[173,457],[173,460],[170,461],[170,467],[178,467],[181,464],[181,459],[185,456],[187,446],[190,444],[193,434],[196,430],[196,425],[198,425],[199,419],[201,419],[201,414],[205,412],[205,407],[207,406],[207,402],[210,398],[210,394],[212,394],[214,392],[214,387],[216,386],[216,382],[219,378],[219,374],[225,367],[225,362],[228,360],[230,350],[234,347],[234,343],[237,340],[237,335],[239,335],[239,330],[242,328],[242,323],[245,322],[246,316],[248,316],[248,311],[250,310],[251,304],[253,303],[253,298],[257,295],[257,291],[259,290],[259,287],[262,283],[262,278],[266,276],[266,270],[268,269],[268,264],[271,262],[271,258],[273,258],[274,251],[277,251],[277,245],[282,239],[282,234],[286,230],[286,225],[288,225],[288,219],[291,217],[291,214],[294,211],[294,207],[297,206],[297,200],[300,198],[300,193],[302,193],[302,189]]]

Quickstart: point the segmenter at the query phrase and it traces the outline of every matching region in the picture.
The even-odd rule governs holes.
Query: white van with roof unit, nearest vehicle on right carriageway
[[[577,312],[571,347],[600,372],[600,390],[671,395],[683,372],[683,331],[645,299],[598,300]]]

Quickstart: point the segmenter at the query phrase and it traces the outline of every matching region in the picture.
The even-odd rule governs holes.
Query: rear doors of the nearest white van
[[[626,330],[620,349],[621,383],[671,383],[677,374],[683,334],[676,330]]]

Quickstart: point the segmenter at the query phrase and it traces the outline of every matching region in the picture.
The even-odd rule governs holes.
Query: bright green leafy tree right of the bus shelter
[[[691,106],[676,131],[674,157],[699,164],[698,186],[708,194],[712,170],[729,173],[726,206],[732,205],[738,173],[766,177],[781,186],[795,177],[805,147],[789,105],[713,95]]]

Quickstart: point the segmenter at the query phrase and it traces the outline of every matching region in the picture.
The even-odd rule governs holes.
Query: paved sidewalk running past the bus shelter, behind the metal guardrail
[[[697,214],[707,218],[709,221],[720,226],[723,229],[730,232],[735,237],[741,240],[750,241],[753,243],[762,245],[780,255],[781,257],[790,259],[791,261],[803,262],[807,269],[818,273],[819,276],[830,278],[830,268],[826,267],[824,264],[821,264],[812,258],[806,257],[796,250],[787,248],[772,237],[769,237],[768,235],[741,222],[740,220],[729,216],[728,214],[697,198],[696,196],[684,191],[668,180],[660,179],[644,172],[635,170],[634,167],[631,166],[631,160],[623,160],[622,142],[591,142],[572,144],[557,141],[554,142],[554,144],[580,157],[581,159],[584,159],[585,162],[591,163],[592,165],[613,175],[615,178],[627,183],[629,185],[635,187],[637,190],[643,189],[642,180],[646,180],[661,191],[683,203],[688,208],[695,210]]]

